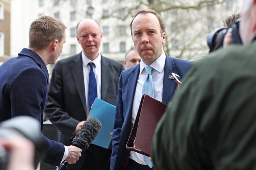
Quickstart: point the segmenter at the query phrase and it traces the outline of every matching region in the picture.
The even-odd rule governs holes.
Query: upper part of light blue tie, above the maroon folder
[[[147,94],[154,98],[154,88],[153,88],[153,81],[152,81],[152,74],[151,74],[152,67],[146,66],[145,69],[148,75],[143,84],[142,95]]]

